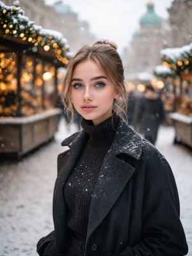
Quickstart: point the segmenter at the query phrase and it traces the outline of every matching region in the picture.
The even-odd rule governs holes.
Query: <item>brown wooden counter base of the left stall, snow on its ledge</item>
[[[51,141],[58,129],[59,109],[26,117],[0,119],[0,156],[19,159],[34,148]]]

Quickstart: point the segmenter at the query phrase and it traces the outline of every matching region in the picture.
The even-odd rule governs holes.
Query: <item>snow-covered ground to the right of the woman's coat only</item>
[[[180,198],[180,219],[188,241],[188,256],[192,256],[192,149],[174,145],[174,136],[172,127],[161,127],[157,148],[170,163],[175,176]]]

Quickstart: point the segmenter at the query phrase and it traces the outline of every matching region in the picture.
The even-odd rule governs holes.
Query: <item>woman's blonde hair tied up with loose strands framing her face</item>
[[[118,100],[114,100],[113,113],[126,118],[127,95],[124,82],[124,67],[116,50],[117,46],[114,42],[97,40],[92,45],[84,45],[68,62],[67,73],[61,90],[61,101],[63,102],[65,113],[71,116],[72,120],[74,118],[74,107],[70,97],[71,81],[74,68],[84,60],[93,60],[99,64],[109,81],[115,85],[115,90],[120,97]]]

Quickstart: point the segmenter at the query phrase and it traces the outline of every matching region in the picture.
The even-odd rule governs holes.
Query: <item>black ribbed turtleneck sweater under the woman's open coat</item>
[[[113,141],[118,121],[115,115],[97,126],[85,119],[81,122],[88,134],[88,141],[68,177],[64,194],[68,206],[68,227],[83,236],[87,232],[90,204],[100,166]]]

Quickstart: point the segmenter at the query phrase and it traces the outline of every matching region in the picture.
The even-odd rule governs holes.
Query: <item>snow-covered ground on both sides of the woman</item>
[[[0,255],[36,256],[36,242],[52,230],[52,191],[61,141],[76,131],[61,120],[55,141],[0,163]],[[157,148],[172,166],[180,195],[180,216],[192,256],[192,150],[173,145],[173,127],[161,127]]]

